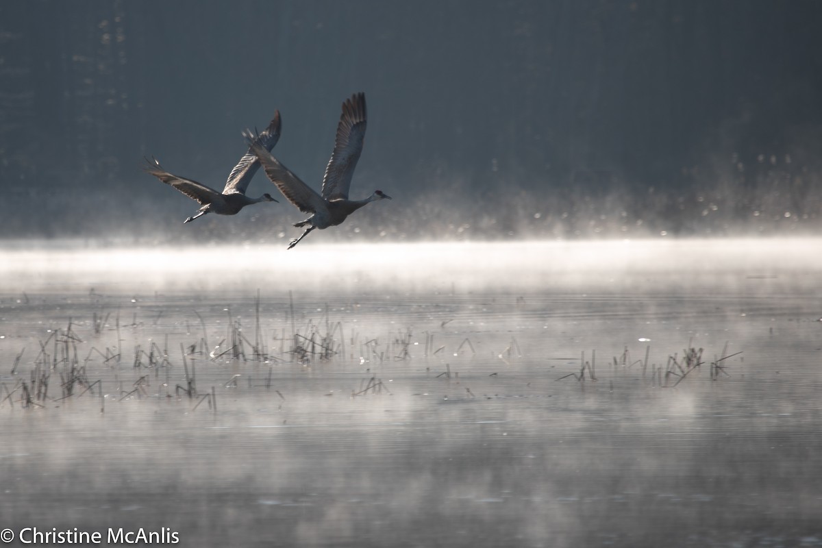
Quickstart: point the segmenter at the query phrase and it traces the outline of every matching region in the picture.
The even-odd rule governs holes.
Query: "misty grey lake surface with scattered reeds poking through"
[[[822,546],[820,246],[5,242],[0,528]]]

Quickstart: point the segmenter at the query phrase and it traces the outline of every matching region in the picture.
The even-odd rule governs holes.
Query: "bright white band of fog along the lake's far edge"
[[[321,236],[321,233],[314,234]],[[147,287],[255,288],[282,292],[309,285],[317,292],[339,288],[413,288],[549,290],[620,283],[621,275],[662,274],[689,283],[694,274],[739,285],[746,275],[803,274],[822,265],[808,253],[817,240],[798,238],[659,239],[601,242],[429,242],[413,244],[301,244],[284,246],[200,247],[96,246],[93,242],[8,242],[0,274],[21,288],[31,283],[59,285],[60,279]],[[35,274],[35,279],[25,274]],[[512,275],[516,274],[516,275]],[[810,273],[808,274],[810,275]],[[222,284],[237,282],[233,287]],[[658,279],[648,279],[649,284]]]

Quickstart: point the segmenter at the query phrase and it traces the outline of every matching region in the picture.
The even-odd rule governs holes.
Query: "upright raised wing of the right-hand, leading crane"
[[[334,152],[322,177],[322,197],[326,200],[348,199],[351,177],[363,152],[366,124],[365,94],[353,94],[343,103]]]

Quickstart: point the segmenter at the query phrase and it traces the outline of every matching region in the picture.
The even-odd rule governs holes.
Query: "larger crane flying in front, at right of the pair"
[[[353,94],[343,103],[343,113],[339,117],[334,152],[326,166],[326,175],[322,177],[322,194],[317,194],[311,187],[291,173],[282,163],[272,156],[260,140],[251,131],[243,131],[250,149],[260,160],[266,175],[279,191],[283,193],[298,210],[311,213],[308,219],[296,223],[295,227],[304,227],[306,231],[296,240],[292,240],[289,249],[296,246],[314,228],[328,228],[342,223],[354,211],[374,200],[389,199],[382,191],[374,193],[365,200],[349,200],[351,176],[357,166],[357,160],[363,151],[363,137],[366,127],[365,94]]]

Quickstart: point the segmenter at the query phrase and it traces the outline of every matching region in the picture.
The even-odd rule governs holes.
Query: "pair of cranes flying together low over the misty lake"
[[[314,228],[336,226],[363,205],[376,200],[390,200],[390,196],[382,191],[374,191],[365,200],[349,200],[351,177],[354,168],[357,167],[357,160],[363,152],[366,123],[365,94],[353,94],[349,99],[345,99],[343,113],[339,117],[337,126],[334,151],[326,166],[326,174],[322,178],[321,193],[302,182],[270,154],[271,149],[279,140],[281,127],[279,110],[275,111],[274,118],[261,133],[255,134],[248,130],[242,132],[249,148],[229,173],[229,179],[222,192],[215,191],[192,179],[173,175],[165,171],[156,159],[146,159],[148,166],[145,170],[200,203],[202,207],[197,214],[183,221],[183,223],[190,223],[207,213],[233,215],[247,205],[278,201],[267,193],[256,199],[246,196],[248,183],[262,166],[266,176],[276,185],[286,200],[297,206],[297,209],[303,213],[312,214],[308,219],[294,224],[295,227],[307,226],[308,228],[300,237],[291,241],[289,244],[289,249],[291,249]]]

